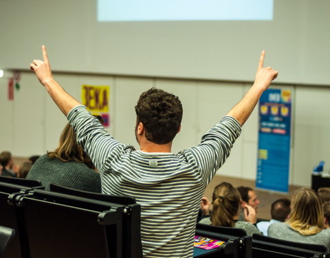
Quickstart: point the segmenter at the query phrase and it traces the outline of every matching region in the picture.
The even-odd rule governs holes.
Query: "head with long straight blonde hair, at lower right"
[[[324,227],[323,210],[318,195],[303,187],[292,192],[291,213],[287,221],[301,235],[314,235]]]

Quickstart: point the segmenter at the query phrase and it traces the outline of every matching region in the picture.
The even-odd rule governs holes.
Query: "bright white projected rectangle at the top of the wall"
[[[270,21],[274,0],[98,0],[98,21]]]

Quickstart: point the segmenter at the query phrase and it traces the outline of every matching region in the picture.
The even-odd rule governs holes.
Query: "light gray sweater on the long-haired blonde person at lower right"
[[[301,235],[285,222],[276,222],[268,227],[268,236],[287,241],[306,244],[322,244],[330,249],[330,228],[324,229],[315,235]]]

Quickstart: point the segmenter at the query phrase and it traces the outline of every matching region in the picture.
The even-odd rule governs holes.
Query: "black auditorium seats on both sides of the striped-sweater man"
[[[263,235],[248,237],[239,228],[197,224],[196,235],[224,244],[212,250],[194,248],[195,258],[330,257],[325,246]],[[54,184],[45,191],[34,180],[0,177],[1,257],[140,258],[140,205],[132,197]]]

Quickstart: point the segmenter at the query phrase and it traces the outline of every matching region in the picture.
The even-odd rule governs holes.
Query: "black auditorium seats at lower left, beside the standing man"
[[[140,205],[101,195],[0,177],[0,225],[15,232],[8,258],[142,258]]]

